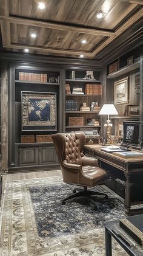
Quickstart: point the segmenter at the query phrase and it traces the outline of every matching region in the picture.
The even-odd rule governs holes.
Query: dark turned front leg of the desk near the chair
[[[130,183],[130,174],[129,173],[125,173],[125,178],[126,178],[126,182],[125,182],[125,202],[124,202],[124,206],[125,206],[125,210],[126,213],[128,214],[130,212],[130,206],[131,206],[131,198],[130,198],[130,188],[131,188],[131,183]]]

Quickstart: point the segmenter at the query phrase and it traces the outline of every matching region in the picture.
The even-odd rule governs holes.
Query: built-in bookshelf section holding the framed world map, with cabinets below
[[[10,67],[9,171],[58,167],[53,133],[62,132],[62,70]]]

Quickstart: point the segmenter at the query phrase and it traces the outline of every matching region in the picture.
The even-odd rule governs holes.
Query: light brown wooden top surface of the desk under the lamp
[[[103,148],[102,145],[99,144],[92,144],[92,145],[84,145],[85,150],[90,150],[93,151],[95,153],[96,156],[101,156],[101,157],[108,157],[108,158],[112,158],[112,159],[119,159],[122,162],[141,162],[143,163],[143,153],[141,157],[121,157],[121,156],[116,156],[113,153],[107,153],[105,151],[102,151],[101,148]],[[139,150],[131,150],[131,151],[136,151],[139,152]]]

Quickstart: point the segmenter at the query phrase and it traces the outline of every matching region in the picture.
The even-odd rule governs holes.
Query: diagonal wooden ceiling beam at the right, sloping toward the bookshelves
[[[142,10],[143,8],[136,12],[135,15],[133,15],[130,19],[128,19],[128,21],[126,21],[121,27],[119,27],[119,29],[116,30],[116,37],[121,35],[121,33],[123,33],[126,29],[128,29],[128,27],[130,27],[131,24],[135,23],[136,21],[138,21],[138,19],[142,18]],[[93,50],[91,55],[95,57],[95,55],[98,54],[98,52],[104,49],[104,47],[111,43],[113,40],[115,40],[115,38],[108,38],[97,49]]]

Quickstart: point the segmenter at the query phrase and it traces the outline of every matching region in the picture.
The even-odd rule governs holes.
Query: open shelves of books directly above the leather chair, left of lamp
[[[98,130],[102,99],[101,71],[67,69],[65,71],[65,131]],[[91,73],[92,73],[91,72]]]

